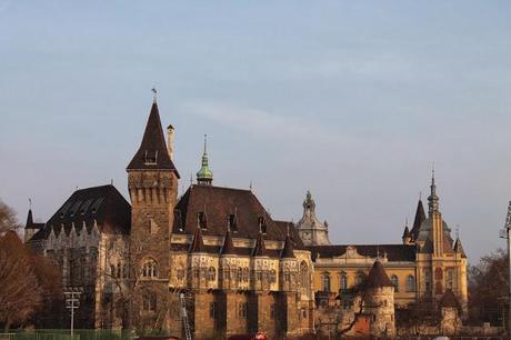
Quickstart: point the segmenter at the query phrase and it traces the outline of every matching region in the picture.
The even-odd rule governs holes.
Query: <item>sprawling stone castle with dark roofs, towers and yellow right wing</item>
[[[154,99],[127,167],[131,204],[110,184],[77,190],[44,224],[29,211],[26,242],[61,269],[64,288],[83,290],[80,327],[182,334],[183,303],[196,338],[309,333],[322,304],[353,303],[345,297],[362,283],[372,333],[393,334],[394,304],[452,290],[467,306],[467,257],[442,220],[434,177],[428,217],[419,201],[402,243],[332,246],[310,192],[294,226],[272,219],[251,190],[213,186],[206,140],[197,183],[178,197],[167,132],[166,141]]]

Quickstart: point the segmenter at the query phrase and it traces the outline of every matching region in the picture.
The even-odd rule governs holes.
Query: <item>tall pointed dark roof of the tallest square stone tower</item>
[[[142,142],[133,159],[128,164],[127,170],[173,170],[179,178],[172,160],[167,149],[166,138],[160,121],[158,104],[152,103],[149,113]]]

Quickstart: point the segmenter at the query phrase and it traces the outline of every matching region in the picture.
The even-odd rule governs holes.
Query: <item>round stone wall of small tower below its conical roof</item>
[[[370,313],[370,332],[374,337],[394,337],[394,288],[371,288],[365,292],[365,310]]]

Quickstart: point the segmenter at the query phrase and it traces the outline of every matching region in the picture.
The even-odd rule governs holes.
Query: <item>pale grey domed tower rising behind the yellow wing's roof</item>
[[[328,223],[315,217],[315,202],[310,191],[303,200],[303,217],[297,224],[300,238],[305,246],[329,246]]]

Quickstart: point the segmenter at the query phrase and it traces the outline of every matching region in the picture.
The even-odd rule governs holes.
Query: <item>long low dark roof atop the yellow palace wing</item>
[[[340,257],[345,253],[347,247],[357,248],[361,256],[375,258],[378,254],[384,256],[389,261],[415,261],[415,246],[408,244],[338,244],[338,246],[310,246],[312,259]]]

